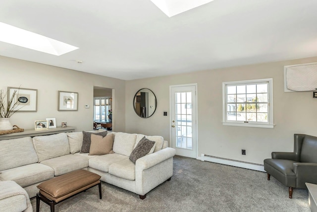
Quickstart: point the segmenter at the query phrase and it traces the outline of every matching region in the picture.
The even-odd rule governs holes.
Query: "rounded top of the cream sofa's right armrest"
[[[170,147],[166,147],[152,154],[145,155],[137,159],[135,167],[141,170],[145,170],[159,164],[160,162],[171,158],[175,155],[176,150]]]

